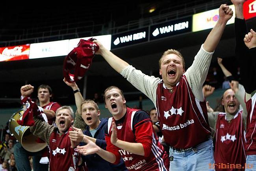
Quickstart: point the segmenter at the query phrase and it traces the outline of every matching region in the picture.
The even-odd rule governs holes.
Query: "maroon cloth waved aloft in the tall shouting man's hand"
[[[99,46],[92,42],[94,39],[81,39],[77,47],[75,47],[66,57],[63,64],[63,75],[68,82],[76,82],[85,75],[91,66],[95,52]]]

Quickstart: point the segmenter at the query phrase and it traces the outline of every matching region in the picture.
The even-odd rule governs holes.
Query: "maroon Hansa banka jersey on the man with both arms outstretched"
[[[173,89],[161,80],[156,89],[156,106],[165,142],[175,148],[190,148],[211,135],[206,102],[195,98],[185,75]]]

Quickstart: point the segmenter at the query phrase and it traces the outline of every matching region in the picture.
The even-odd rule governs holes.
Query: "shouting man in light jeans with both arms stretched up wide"
[[[228,5],[219,7],[216,25],[186,72],[180,52],[165,51],[159,60],[162,79],[143,74],[94,40],[100,46],[96,54],[154,103],[165,142],[170,144],[170,170],[213,170],[209,168],[214,164],[213,142],[202,86],[212,54],[232,15]]]

